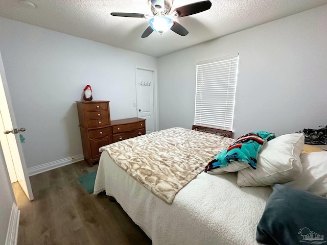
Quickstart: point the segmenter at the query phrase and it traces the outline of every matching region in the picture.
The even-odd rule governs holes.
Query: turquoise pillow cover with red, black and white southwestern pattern
[[[266,131],[255,131],[242,135],[231,143],[221,153],[209,161],[204,171],[224,167],[232,161],[247,162],[253,169],[256,169],[256,158],[263,144],[275,138],[274,133]]]

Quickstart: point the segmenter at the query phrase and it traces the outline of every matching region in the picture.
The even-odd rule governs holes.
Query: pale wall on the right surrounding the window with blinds
[[[235,137],[326,125],[326,23],[324,5],[159,58],[160,129],[192,127],[196,62],[235,53]]]

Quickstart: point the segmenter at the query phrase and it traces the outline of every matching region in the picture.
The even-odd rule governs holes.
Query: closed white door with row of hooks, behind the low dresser
[[[146,119],[146,133],[156,131],[155,70],[136,67],[137,117]]]

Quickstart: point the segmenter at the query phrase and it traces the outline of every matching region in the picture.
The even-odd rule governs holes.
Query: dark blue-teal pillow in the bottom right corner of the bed
[[[327,240],[326,220],[326,198],[276,184],[257,227],[256,240],[268,245],[322,244]]]

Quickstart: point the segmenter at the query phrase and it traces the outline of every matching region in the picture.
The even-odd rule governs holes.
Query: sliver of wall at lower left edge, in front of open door
[[[0,244],[5,244],[12,205],[15,202],[4,154],[0,144]]]

